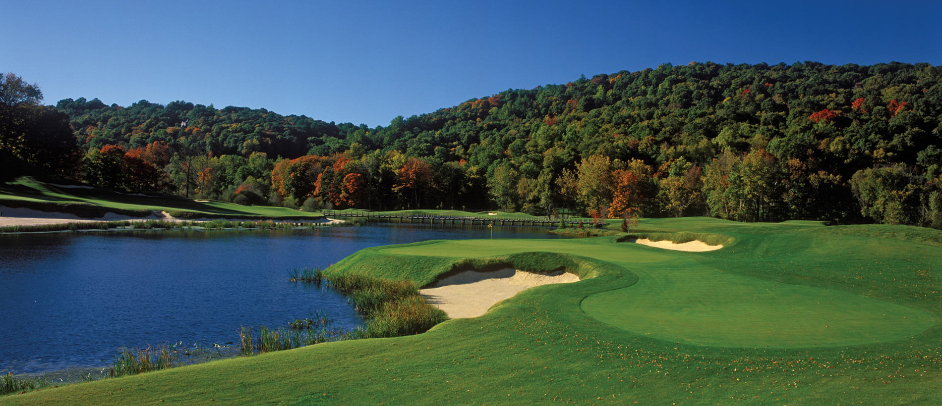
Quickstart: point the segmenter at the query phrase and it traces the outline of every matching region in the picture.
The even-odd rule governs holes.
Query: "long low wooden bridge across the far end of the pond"
[[[493,226],[577,226],[591,225],[591,222],[572,221],[564,219],[551,219],[549,217],[492,217],[488,215],[449,216],[435,214],[388,214],[376,211],[322,211],[326,217],[356,217],[363,218],[368,223],[418,223],[418,224],[462,224],[462,225],[493,225]]]

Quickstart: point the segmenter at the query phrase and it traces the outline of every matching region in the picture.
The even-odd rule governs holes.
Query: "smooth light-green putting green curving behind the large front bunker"
[[[785,247],[803,244],[794,238],[770,240]],[[817,242],[811,251],[828,251],[826,245]],[[667,341],[748,348],[849,346],[909,338],[935,323],[930,314],[901,304],[723,272],[695,260],[703,253],[610,239],[440,241],[380,249],[428,257],[537,250],[601,258],[637,273],[637,284],[595,293],[583,300],[582,310],[612,326]]]

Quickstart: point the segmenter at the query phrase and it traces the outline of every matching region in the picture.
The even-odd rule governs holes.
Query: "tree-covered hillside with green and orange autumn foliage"
[[[929,64],[665,64],[376,128],[190,102],[56,111],[84,155],[63,172],[126,191],[942,227],[942,69]]]

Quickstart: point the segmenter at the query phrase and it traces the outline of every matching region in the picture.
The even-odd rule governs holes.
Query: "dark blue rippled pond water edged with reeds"
[[[501,226],[494,238],[556,238],[546,230]],[[0,235],[0,371],[104,367],[121,347],[212,348],[237,342],[242,325],[315,310],[351,329],[362,320],[346,299],[288,282],[288,270],[370,246],[489,237],[487,226],[428,225]]]

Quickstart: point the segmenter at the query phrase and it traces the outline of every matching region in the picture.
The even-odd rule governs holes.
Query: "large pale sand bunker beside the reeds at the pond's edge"
[[[512,268],[482,273],[465,271],[448,276],[428,289],[420,289],[430,304],[445,310],[451,319],[478,317],[497,302],[518,291],[540,285],[577,282],[573,273],[528,273]]]

